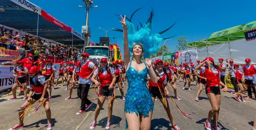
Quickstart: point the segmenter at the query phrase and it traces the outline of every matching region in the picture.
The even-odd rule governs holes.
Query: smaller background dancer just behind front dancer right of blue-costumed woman
[[[175,99],[177,100],[180,100],[180,98],[177,96],[177,87],[176,87],[176,83],[174,80],[172,80],[172,74],[174,73],[173,72],[173,69],[171,69],[169,67],[169,64],[168,63],[164,63],[164,69],[165,71],[167,72],[167,75],[168,75],[168,82],[171,84],[172,88],[173,88],[173,92],[174,92],[174,95],[175,95]],[[168,84],[167,84],[168,86]],[[169,86],[168,86],[169,87]]]

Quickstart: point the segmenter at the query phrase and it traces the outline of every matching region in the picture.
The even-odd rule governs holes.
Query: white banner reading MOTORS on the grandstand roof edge
[[[27,10],[30,10],[32,12],[35,12],[35,13],[38,13],[41,15],[42,9],[40,7],[38,7],[37,5],[29,2],[29,0],[11,0],[11,1]]]

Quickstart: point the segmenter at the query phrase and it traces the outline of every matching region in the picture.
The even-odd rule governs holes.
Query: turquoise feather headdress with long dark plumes
[[[137,9],[135,12],[137,12],[140,9]],[[138,44],[143,47],[143,57],[150,58],[151,54],[155,54],[157,52],[162,40],[169,39],[169,38],[172,38],[177,35],[176,34],[169,38],[161,38],[160,37],[161,34],[166,32],[170,28],[172,28],[172,26],[174,26],[177,22],[174,23],[172,26],[170,26],[168,29],[165,29],[164,31],[161,31],[161,32],[151,35],[152,18],[154,16],[153,9],[151,11],[150,17],[148,18],[148,21],[144,25],[142,23],[140,23],[140,21],[139,21],[141,29],[139,29],[138,25],[137,25],[137,31],[136,31],[134,29],[134,24],[131,22],[131,19],[132,19],[134,13],[131,15],[130,19],[128,17],[126,17],[126,20],[127,20],[126,26],[127,26],[127,32],[128,32],[128,46],[129,46],[130,57],[132,56],[132,47]],[[122,29],[114,29],[113,31],[123,32]],[[122,43],[123,43],[123,41],[122,41]]]

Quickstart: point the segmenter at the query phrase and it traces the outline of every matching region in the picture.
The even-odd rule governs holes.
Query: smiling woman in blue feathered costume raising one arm
[[[126,128],[129,126],[129,130],[150,130],[154,104],[146,87],[146,78],[149,75],[157,83],[157,75],[148,58],[151,53],[156,53],[163,38],[159,34],[150,35],[151,23],[135,31],[131,22],[125,22],[122,15],[121,18],[122,21],[119,22],[123,27],[124,61],[128,79],[124,108]],[[142,61],[143,57],[146,58],[145,63]]]

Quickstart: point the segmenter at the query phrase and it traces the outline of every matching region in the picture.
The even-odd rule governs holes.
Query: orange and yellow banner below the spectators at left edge
[[[16,64],[20,60],[20,51],[10,49],[0,49],[0,65]]]

